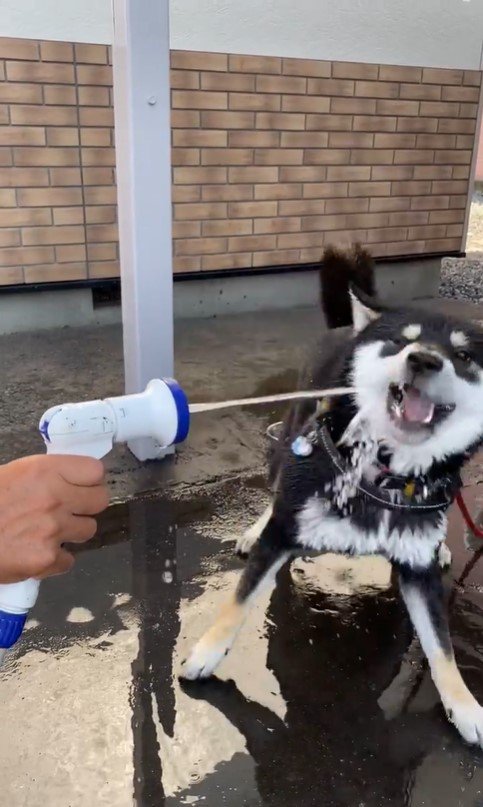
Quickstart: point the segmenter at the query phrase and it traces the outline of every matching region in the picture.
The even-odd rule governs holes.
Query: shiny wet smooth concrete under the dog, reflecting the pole
[[[116,505],[42,584],[0,676],[11,807],[483,804],[483,753],[444,718],[380,559],[283,569],[219,677],[179,685],[242,565],[223,538],[265,501],[256,477]],[[483,560],[456,516],[450,542],[456,652],[483,701]]]

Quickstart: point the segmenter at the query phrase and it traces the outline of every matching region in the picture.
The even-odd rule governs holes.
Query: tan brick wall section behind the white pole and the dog
[[[461,248],[481,73],[175,51],[177,272]],[[104,46],[0,39],[0,284],[118,274]]]

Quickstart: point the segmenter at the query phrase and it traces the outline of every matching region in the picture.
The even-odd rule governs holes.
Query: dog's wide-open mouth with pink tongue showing
[[[440,423],[454,411],[455,404],[435,403],[412,384],[390,384],[387,408],[396,426],[405,431],[416,431]]]

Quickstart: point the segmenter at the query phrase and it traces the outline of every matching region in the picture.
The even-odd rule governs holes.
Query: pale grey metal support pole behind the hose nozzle
[[[173,375],[169,0],[114,0],[114,116],[126,392]],[[129,444],[140,460],[162,454]]]

